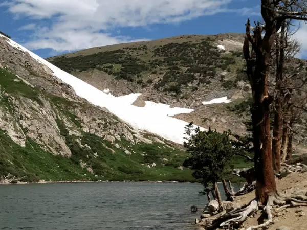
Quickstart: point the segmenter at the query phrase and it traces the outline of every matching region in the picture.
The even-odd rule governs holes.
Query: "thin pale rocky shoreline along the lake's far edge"
[[[13,181],[13,180],[12,180]],[[111,180],[104,180],[104,181],[45,181],[40,180],[38,182],[21,182],[17,181],[17,183],[12,183],[9,179],[0,180],[0,186],[2,185],[45,185],[47,183],[199,183],[200,182],[179,182],[179,181],[133,181],[133,180],[124,180],[124,181],[111,181]]]

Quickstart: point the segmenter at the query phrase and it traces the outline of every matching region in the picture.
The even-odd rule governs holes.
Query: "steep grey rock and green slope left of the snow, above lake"
[[[180,146],[78,97],[1,35],[0,140],[0,183],[192,180]]]

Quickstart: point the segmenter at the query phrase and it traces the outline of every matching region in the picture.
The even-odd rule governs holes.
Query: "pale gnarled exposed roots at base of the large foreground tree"
[[[299,195],[293,194],[290,196],[278,193],[271,195],[269,196],[267,205],[264,208],[260,207],[258,205],[257,200],[254,199],[248,205],[243,206],[242,208],[232,210],[224,214],[223,216],[218,217],[209,226],[205,227],[206,229],[217,229],[221,227],[226,229],[232,229],[231,226],[234,228],[239,227],[247,219],[247,217],[249,217],[259,208],[261,208],[262,212],[267,216],[267,221],[257,226],[251,226],[246,230],[265,228],[273,223],[273,208],[278,208],[277,210],[279,210],[281,208],[286,209],[293,206],[307,204],[306,191],[300,191],[300,193],[301,194]]]

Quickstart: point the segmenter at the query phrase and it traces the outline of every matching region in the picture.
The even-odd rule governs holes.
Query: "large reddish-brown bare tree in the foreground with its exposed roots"
[[[271,66],[271,51],[277,32],[287,19],[307,20],[306,2],[300,0],[278,1],[261,0],[261,15],[264,25],[250,25],[248,19],[243,53],[247,63],[246,73],[252,88],[252,126],[254,147],[254,168],[256,175],[255,199],[241,210],[227,213],[211,225],[226,226],[232,223],[241,224],[246,217],[257,210],[258,205],[264,206],[268,221],[248,229],[263,228],[271,224],[272,206],[285,205],[287,202],[306,202],[297,197],[284,197],[277,192],[273,170],[273,157],[270,133],[270,105],[273,97],[269,95],[268,79]],[[251,34],[251,31],[253,34]],[[262,34],[264,36],[262,37]],[[251,46],[251,51],[250,51]],[[282,71],[281,71],[282,72]],[[216,225],[215,225],[216,226]],[[210,229],[210,227],[207,229]]]

